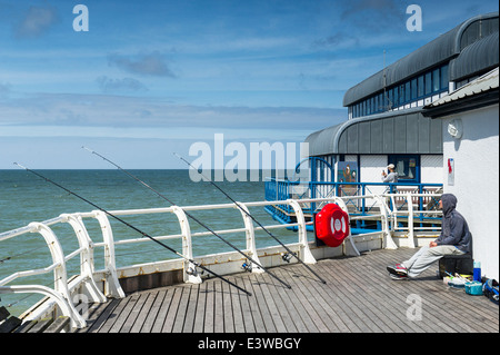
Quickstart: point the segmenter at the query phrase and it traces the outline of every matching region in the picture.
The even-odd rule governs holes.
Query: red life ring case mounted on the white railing
[[[330,247],[338,247],[349,236],[349,215],[336,204],[326,205],[316,215],[316,236]]]

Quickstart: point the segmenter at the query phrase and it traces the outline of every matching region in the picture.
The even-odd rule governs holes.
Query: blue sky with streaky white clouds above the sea
[[[407,29],[411,4],[421,31]],[[347,120],[350,87],[492,11],[491,0],[0,0],[0,169],[110,168],[82,146],[124,168],[187,168],[173,152],[193,159],[216,134],[299,145]]]

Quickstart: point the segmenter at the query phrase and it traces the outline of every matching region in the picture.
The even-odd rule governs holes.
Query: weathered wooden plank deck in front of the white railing
[[[392,280],[386,266],[417,249],[373,250],[359,257],[324,259],[312,267],[270,269],[291,285],[263,274],[139,292],[90,306],[89,333],[498,333],[499,307],[484,296],[450,289],[430,267],[419,278]],[[419,312],[413,312],[413,310]],[[419,315],[421,317],[419,318]]]

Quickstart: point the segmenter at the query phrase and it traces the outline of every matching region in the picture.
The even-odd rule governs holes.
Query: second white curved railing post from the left
[[[80,246],[80,275],[86,277],[82,286],[87,292],[87,296],[91,302],[103,303],[107,300],[106,296],[99,290],[93,279],[93,247],[92,240],[89,237],[89,233],[80,216],[63,214],[60,216],[62,221],[70,224],[77,235],[78,245]]]

